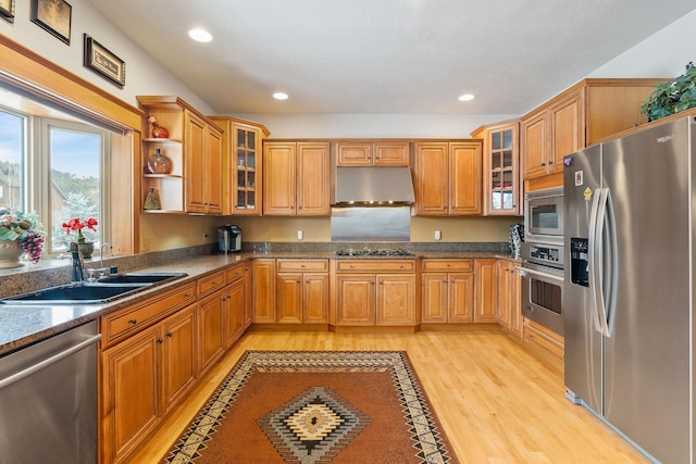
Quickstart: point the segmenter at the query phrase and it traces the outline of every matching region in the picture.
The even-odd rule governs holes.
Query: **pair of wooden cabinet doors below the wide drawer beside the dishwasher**
[[[122,462],[196,384],[196,308],[101,352],[103,462]]]

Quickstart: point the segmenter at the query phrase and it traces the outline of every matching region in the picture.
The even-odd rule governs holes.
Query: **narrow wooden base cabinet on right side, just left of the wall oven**
[[[510,261],[499,260],[497,263],[498,324],[522,338],[522,278],[518,267]]]

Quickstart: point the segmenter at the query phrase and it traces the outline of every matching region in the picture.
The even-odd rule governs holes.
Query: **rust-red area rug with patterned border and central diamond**
[[[401,351],[247,351],[163,463],[457,463]]]

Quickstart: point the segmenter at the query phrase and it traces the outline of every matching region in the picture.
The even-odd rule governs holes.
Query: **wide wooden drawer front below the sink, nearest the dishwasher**
[[[196,287],[191,283],[145,300],[130,308],[108,314],[102,317],[102,331],[105,343],[109,344],[114,340],[133,334],[148,324],[195,301]]]

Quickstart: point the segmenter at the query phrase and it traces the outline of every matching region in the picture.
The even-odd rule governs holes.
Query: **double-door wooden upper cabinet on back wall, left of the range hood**
[[[263,143],[263,214],[331,214],[328,142]]]

